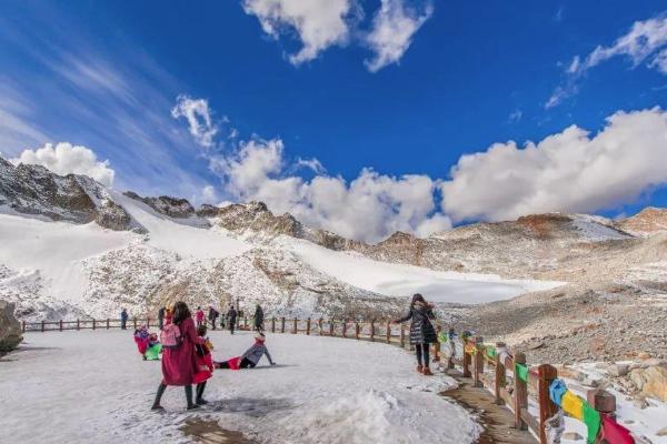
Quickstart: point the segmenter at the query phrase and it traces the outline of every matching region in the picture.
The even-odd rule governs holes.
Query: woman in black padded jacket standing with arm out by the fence
[[[428,346],[438,341],[436,329],[431,324],[431,320],[435,319],[434,306],[426,302],[421,294],[415,294],[408,314],[394,321],[395,323],[401,323],[411,320],[410,345],[415,346],[415,353],[417,354],[417,372],[426,376],[432,375]]]

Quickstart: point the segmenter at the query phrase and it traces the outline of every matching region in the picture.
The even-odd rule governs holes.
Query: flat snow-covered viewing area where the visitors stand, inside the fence
[[[239,355],[250,333],[211,332],[216,359]],[[16,443],[185,443],[189,418],[216,420],[260,443],[451,443],[480,428],[438,395],[452,380],[414,371],[398,347],[332,337],[269,335],[279,364],[217,371],[197,413],[169,387],[150,412],[159,362],[143,362],[131,331],[29,333],[0,361],[2,435]],[[2,440],[4,442],[4,438]]]

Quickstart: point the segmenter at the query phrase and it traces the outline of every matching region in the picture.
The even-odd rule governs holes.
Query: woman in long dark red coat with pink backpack
[[[171,322],[178,326],[178,331],[175,331],[175,333],[176,335],[180,333],[180,339],[176,337],[176,341],[173,341],[172,336],[171,341],[169,339],[162,341],[165,343],[162,351],[162,382],[158,387],[152,410],[162,410],[160,400],[167,385],[185,386],[188,410],[199,408],[199,405],[192,402],[192,384],[195,383],[195,373],[197,373],[195,345],[203,344],[206,340],[197,335],[192,314],[185,302],[177,302],[173,305],[173,319]],[[165,326],[162,334],[170,334],[167,326]]]

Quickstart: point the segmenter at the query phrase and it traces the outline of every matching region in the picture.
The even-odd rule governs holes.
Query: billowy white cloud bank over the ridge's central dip
[[[318,174],[307,181],[286,175],[278,139],[242,143],[231,157],[212,162],[237,200],[259,200],[275,212],[290,212],[306,224],[347,238],[379,241],[395,231],[426,236],[451,228],[435,212],[436,183],[427,175],[392,178],[365,169],[351,182]]]

